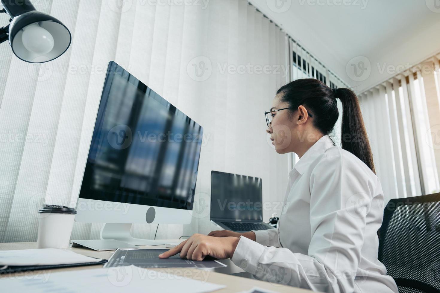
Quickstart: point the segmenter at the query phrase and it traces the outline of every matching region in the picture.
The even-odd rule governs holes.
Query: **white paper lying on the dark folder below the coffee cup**
[[[80,264],[98,262],[100,259],[86,257],[70,250],[55,248],[2,250],[0,251],[0,266],[25,266],[45,264]]]

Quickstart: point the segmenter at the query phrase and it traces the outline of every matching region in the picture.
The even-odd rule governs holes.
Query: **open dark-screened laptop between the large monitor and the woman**
[[[234,232],[274,229],[263,221],[261,178],[211,172],[211,222]]]

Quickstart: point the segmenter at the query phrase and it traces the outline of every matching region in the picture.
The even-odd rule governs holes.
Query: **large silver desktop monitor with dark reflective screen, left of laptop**
[[[190,224],[202,135],[198,123],[111,61],[75,221],[107,223],[102,239],[132,244],[142,244],[129,236],[132,223]]]

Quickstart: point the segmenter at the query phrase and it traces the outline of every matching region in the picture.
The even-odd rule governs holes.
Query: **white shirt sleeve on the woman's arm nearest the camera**
[[[354,280],[372,193],[362,172],[345,166],[339,156],[326,157],[315,166],[310,177],[312,238],[307,255],[241,237],[232,261],[264,281],[321,292],[357,291]]]

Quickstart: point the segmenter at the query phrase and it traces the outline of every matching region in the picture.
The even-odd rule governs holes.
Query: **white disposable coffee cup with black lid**
[[[77,211],[67,206],[43,205],[38,211],[38,248],[68,248]]]

